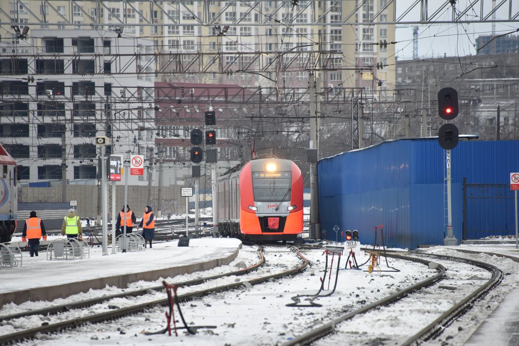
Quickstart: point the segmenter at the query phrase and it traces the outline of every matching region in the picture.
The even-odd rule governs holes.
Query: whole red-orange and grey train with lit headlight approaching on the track
[[[256,159],[217,179],[218,231],[248,240],[295,240],[303,232],[303,176],[284,159]]]

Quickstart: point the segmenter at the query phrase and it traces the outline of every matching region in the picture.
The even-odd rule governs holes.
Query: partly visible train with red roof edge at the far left
[[[0,243],[11,241],[18,216],[16,161],[0,146]]]

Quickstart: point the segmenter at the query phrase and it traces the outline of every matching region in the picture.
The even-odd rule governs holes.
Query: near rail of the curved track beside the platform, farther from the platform
[[[303,264],[299,265],[298,267],[295,267],[295,268],[292,268],[289,270],[285,270],[278,274],[271,274],[271,275],[267,275],[267,276],[262,276],[261,278],[244,280],[244,281],[240,281],[240,282],[236,282],[236,283],[226,284],[226,285],[222,285],[222,286],[199,290],[197,292],[179,295],[178,296],[179,302],[184,302],[184,301],[192,300],[195,298],[207,296],[209,294],[224,292],[226,290],[239,288],[245,282],[248,282],[251,285],[257,285],[257,284],[266,282],[271,279],[279,279],[279,278],[283,278],[284,276],[290,276],[290,275],[293,275],[296,273],[300,273],[307,267],[308,260],[301,253],[299,253],[295,248],[293,248],[293,251],[296,252],[296,255],[299,258],[301,258],[301,260],[303,261]],[[94,315],[90,315],[90,316],[79,317],[77,319],[72,319],[72,320],[68,320],[68,321],[62,321],[59,323],[53,323],[53,324],[48,324],[48,325],[44,325],[44,326],[40,326],[40,327],[36,327],[36,328],[26,329],[26,330],[18,331],[17,333],[0,336],[0,344],[14,343],[16,341],[33,338],[38,333],[47,334],[47,333],[52,333],[52,332],[56,332],[56,331],[59,332],[60,330],[64,330],[64,329],[68,329],[68,328],[76,328],[76,327],[79,327],[84,324],[98,323],[98,322],[104,322],[104,321],[108,321],[108,320],[119,319],[121,317],[124,317],[124,316],[132,314],[132,313],[144,311],[151,307],[166,306],[168,304],[169,304],[168,298],[164,298],[164,299],[159,299],[159,300],[155,300],[155,301],[151,301],[151,302],[141,303],[141,304],[126,307],[126,308],[116,309],[116,310],[107,311],[107,312],[94,314]]]

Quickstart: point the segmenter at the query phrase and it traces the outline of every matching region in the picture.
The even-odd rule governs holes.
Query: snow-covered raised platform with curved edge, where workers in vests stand
[[[63,298],[106,285],[126,288],[139,280],[208,270],[229,264],[240,248],[237,239],[199,238],[190,239],[188,247],[179,247],[175,240],[155,243],[145,251],[115,254],[108,246],[108,255],[104,256],[102,247],[94,246],[89,258],[73,260],[47,260],[45,251],[38,257],[23,252],[21,267],[0,269],[0,307],[9,302]]]

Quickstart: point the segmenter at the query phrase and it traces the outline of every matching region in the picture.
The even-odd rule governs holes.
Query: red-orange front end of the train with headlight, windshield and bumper
[[[252,160],[240,172],[240,230],[250,240],[303,232],[303,177],[290,160]]]

